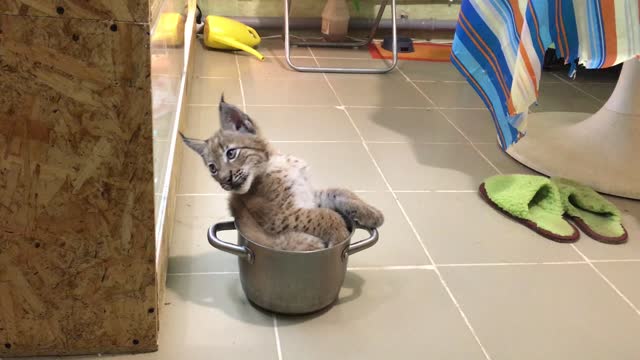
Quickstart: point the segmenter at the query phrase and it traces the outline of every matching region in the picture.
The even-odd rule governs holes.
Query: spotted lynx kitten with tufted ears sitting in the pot
[[[220,100],[220,130],[207,140],[182,135],[211,176],[231,192],[229,208],[241,231],[253,241],[282,250],[314,250],[349,236],[342,216],[366,227],[384,218],[346,189],[314,190],[307,164],[277,152],[255,122]]]

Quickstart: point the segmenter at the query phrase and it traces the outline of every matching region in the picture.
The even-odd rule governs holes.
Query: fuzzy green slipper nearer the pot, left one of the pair
[[[563,218],[560,192],[546,177],[496,175],[479,190],[491,206],[548,239],[574,242],[580,237],[578,229]]]

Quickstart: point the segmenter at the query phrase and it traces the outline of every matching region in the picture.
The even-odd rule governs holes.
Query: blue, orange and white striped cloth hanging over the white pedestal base
[[[451,62],[491,111],[503,149],[526,133],[545,50],[569,76],[640,54],[639,0],[463,0]]]

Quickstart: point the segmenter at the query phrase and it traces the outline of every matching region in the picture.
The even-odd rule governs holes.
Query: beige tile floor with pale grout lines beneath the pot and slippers
[[[187,151],[160,351],[136,359],[640,358],[640,202],[613,199],[631,233],[626,245],[545,240],[477,196],[487,176],[531,171],[497,148],[487,110],[451,65],[301,74],[285,66],[278,40],[263,47],[264,63],[197,47],[185,132],[215,131],[224,90],[279,149],[307,160],[319,187],[346,186],[380,207],[380,242],[350,259],[330,311],[258,311],[242,294],[236,259],[206,242],[207,227],[229,219],[226,197]],[[294,54],[311,66],[381,66],[360,51]],[[564,75],[545,73],[534,111],[593,112],[615,83]]]

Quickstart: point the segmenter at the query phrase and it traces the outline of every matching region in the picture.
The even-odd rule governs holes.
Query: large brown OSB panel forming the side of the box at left
[[[0,357],[157,347],[148,25],[0,15]]]

